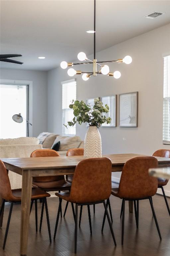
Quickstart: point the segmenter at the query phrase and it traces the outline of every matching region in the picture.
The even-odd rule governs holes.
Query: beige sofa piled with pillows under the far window
[[[67,150],[70,148],[84,148],[84,141],[79,136],[64,136],[58,134],[50,134],[42,143],[42,148],[51,148],[53,144],[60,142],[58,153],[60,156],[66,156]]]

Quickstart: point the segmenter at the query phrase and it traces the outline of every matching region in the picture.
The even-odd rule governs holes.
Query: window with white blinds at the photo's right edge
[[[170,55],[164,57],[163,144],[170,144]]]

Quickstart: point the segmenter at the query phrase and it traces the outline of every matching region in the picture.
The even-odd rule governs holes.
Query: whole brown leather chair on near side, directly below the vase
[[[109,158],[89,158],[80,161],[75,169],[70,192],[55,193],[59,197],[59,207],[55,224],[56,236],[62,199],[76,204],[75,210],[75,241],[74,251],[77,252],[77,217],[78,206],[103,203],[109,222],[110,230],[116,245],[112,224],[107,211],[105,200],[111,195],[112,162]],[[100,188],[100,189],[99,189]],[[90,220],[91,222],[91,220]]]

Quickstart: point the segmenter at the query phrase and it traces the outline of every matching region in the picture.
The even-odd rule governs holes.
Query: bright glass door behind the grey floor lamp
[[[22,123],[13,121],[12,116],[21,113]],[[27,136],[28,85],[0,85],[0,138]]]

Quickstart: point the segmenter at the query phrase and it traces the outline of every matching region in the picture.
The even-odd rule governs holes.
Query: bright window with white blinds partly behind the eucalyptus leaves
[[[76,81],[69,80],[62,82],[62,134],[65,135],[75,135],[76,134],[76,125],[67,126],[68,121],[71,121],[74,118],[73,110],[69,108],[72,100],[76,100]]]

